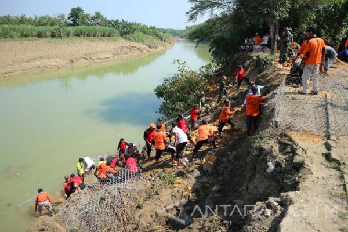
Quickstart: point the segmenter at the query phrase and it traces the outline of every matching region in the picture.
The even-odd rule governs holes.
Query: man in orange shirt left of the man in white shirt
[[[163,131],[161,131],[161,123],[157,123],[156,125],[157,130],[153,134],[153,140],[155,141],[155,149],[156,149],[156,168],[159,168],[159,158],[161,158],[161,155],[163,152],[170,152],[172,155],[172,163],[177,164],[177,162],[174,160],[174,153],[175,150],[173,148],[166,146],[166,138],[167,135]]]

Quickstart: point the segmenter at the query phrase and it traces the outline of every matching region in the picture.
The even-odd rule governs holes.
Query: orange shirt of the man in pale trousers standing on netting
[[[324,40],[318,37],[308,40],[307,46],[304,49],[304,58],[306,62],[304,64],[320,64],[321,56],[325,55],[325,43]]]

